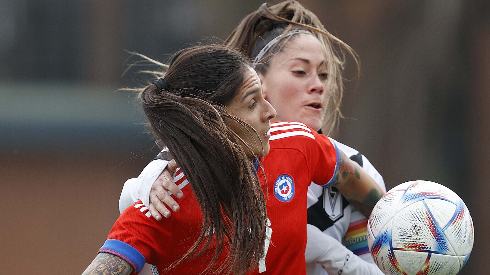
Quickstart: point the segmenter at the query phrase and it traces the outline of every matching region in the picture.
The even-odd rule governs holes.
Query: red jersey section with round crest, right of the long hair
[[[333,182],[338,150],[330,140],[300,122],[275,122],[270,128],[270,152],[259,171],[272,229],[265,272],[261,275],[306,274],[307,194],[311,182]]]

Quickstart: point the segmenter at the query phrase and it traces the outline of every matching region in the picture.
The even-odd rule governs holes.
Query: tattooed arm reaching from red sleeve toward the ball
[[[337,187],[344,198],[366,217],[385,193],[357,162],[347,158],[342,151],[332,186]]]

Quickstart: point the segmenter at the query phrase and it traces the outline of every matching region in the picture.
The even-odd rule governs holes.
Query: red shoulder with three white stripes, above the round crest
[[[313,141],[316,139],[315,131],[306,124],[294,121],[279,121],[270,124],[271,147],[279,146],[280,144],[302,144],[304,142]]]

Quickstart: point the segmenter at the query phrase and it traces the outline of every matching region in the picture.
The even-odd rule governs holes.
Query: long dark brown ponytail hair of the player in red
[[[245,274],[264,256],[264,193],[250,160],[252,150],[228,122],[257,133],[225,107],[237,95],[247,66],[242,54],[229,47],[194,46],[173,54],[168,69],[151,71],[164,77],[157,83],[161,89],[155,84],[129,89],[139,92],[152,132],[183,170],[204,216],[198,240],[171,268],[205,252],[213,236],[215,255],[205,272]],[[228,255],[217,267],[223,251]]]

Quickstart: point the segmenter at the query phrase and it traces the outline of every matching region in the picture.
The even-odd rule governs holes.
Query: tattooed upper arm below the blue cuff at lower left
[[[133,267],[123,258],[111,253],[98,253],[82,275],[129,275]]]

